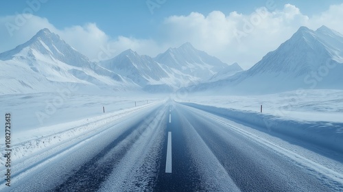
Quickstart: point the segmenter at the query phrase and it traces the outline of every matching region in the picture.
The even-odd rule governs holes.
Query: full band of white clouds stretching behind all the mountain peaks
[[[18,16],[24,18],[24,22],[19,23],[20,26]],[[112,58],[126,49],[156,56],[168,47],[178,47],[190,42],[194,47],[228,64],[238,62],[244,69],[248,69],[266,53],[279,47],[302,25],[311,29],[327,25],[343,34],[341,18],[343,3],[331,5],[326,12],[311,17],[302,14],[296,6],[290,4],[284,5],[283,10],[257,8],[251,14],[213,11],[205,16],[191,12],[187,16],[166,18],[161,23],[160,36],[138,39],[127,36],[112,38],[95,23],[56,29],[45,18],[21,14],[0,17],[0,51],[7,51],[24,43],[38,30],[47,27],[91,60]],[[6,27],[9,26],[8,23],[19,27],[9,30]]]

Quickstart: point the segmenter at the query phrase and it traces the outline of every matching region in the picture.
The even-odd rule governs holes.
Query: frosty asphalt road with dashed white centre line
[[[169,101],[42,160],[10,191],[343,191],[342,172],[307,158],[320,154],[270,138]]]

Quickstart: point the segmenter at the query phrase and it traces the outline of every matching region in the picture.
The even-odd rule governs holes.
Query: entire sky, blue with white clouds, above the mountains
[[[126,49],[155,57],[189,42],[249,69],[300,26],[326,25],[343,34],[342,18],[342,0],[5,0],[0,52],[49,28],[94,61]]]

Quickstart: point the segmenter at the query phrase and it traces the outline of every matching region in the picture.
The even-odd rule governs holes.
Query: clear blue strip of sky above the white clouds
[[[37,0],[38,1],[38,0]],[[47,0],[44,0],[47,1]],[[34,2],[34,1],[30,1]],[[42,1],[43,2],[43,1]],[[99,0],[99,1],[66,1],[49,0],[41,3],[41,8],[34,12],[35,15],[49,19],[58,28],[84,23],[97,23],[97,26],[110,36],[134,36],[146,38],[156,35],[158,24],[167,16],[188,15],[190,12],[209,14],[213,10],[224,13],[237,11],[243,14],[253,12],[268,3],[267,0],[160,0],[160,7],[153,8],[150,12],[146,0]],[[152,0],[152,2],[158,2]],[[275,0],[277,8],[282,8],[285,3],[296,5],[303,14],[312,15],[329,8],[329,5],[340,3],[339,0],[327,1],[283,1]],[[0,14],[11,15],[22,13],[27,8],[26,1],[1,1]],[[153,7],[153,3],[150,3]],[[151,8],[152,8],[151,7]]]

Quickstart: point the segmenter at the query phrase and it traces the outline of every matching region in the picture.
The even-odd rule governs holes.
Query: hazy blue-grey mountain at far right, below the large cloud
[[[303,78],[311,71],[318,70],[328,60],[341,58],[338,50],[342,47],[343,40],[331,35],[332,32],[324,25],[316,31],[300,27],[289,40],[250,68],[249,75],[274,73],[287,74],[285,78]]]

